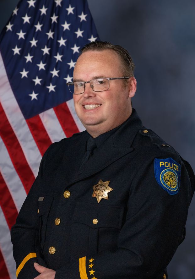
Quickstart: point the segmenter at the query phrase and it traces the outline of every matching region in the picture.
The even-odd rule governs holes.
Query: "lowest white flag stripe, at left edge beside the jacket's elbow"
[[[12,252],[12,243],[10,238],[10,230],[5,220],[2,208],[0,207],[0,224],[1,224],[1,233],[0,233],[0,249],[5,261],[5,264],[8,269],[8,273],[11,279],[16,279],[16,263],[14,261],[13,252]]]

